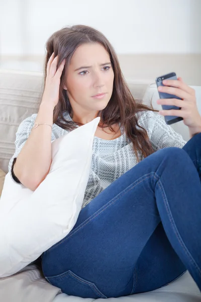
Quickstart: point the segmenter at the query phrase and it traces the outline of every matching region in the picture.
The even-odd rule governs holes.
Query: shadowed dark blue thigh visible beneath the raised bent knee
[[[160,222],[137,260],[131,294],[167,285],[185,271],[185,265],[172,248]]]

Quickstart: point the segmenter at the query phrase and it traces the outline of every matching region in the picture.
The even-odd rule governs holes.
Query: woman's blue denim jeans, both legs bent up
[[[201,290],[201,133],[143,159],[81,209],[42,254],[45,278],[68,295],[126,296],[189,271]]]

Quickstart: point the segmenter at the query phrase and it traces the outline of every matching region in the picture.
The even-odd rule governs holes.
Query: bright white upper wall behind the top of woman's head
[[[102,31],[117,53],[201,53],[201,0],[0,0],[0,55],[43,55],[67,25]]]

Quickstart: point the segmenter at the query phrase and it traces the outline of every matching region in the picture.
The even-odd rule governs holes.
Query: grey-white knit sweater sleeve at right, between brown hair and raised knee
[[[140,118],[142,125],[148,133],[154,150],[165,147],[182,148],[186,141],[170,125],[167,125],[164,117],[153,111],[146,111]]]

